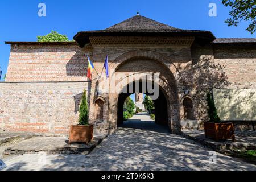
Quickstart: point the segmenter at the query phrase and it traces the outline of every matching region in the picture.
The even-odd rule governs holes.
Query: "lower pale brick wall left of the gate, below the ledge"
[[[88,82],[0,82],[0,129],[68,134]]]

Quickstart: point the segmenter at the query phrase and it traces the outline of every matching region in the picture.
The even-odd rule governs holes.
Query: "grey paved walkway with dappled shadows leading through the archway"
[[[210,164],[208,154],[143,113],[126,121],[89,155],[25,154],[4,161],[8,170],[256,170],[253,164],[218,153],[217,163]]]

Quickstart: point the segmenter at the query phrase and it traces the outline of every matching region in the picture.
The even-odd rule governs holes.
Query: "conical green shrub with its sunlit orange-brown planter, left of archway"
[[[79,107],[79,124],[72,125],[69,130],[69,144],[71,142],[89,143],[93,139],[93,125],[88,123],[88,104],[86,90],[82,93],[82,101]]]

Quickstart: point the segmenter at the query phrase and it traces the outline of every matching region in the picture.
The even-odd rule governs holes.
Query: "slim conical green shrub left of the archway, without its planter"
[[[79,125],[88,125],[88,103],[86,90],[82,93],[82,101],[79,107]]]

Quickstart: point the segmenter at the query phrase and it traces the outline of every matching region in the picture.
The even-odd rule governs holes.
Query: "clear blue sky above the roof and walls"
[[[46,3],[46,17],[38,16],[40,2]],[[217,4],[217,17],[208,15],[211,2]],[[134,16],[137,11],[177,28],[210,30],[217,38],[255,38],[256,35],[245,30],[246,22],[238,27],[228,27],[224,21],[229,16],[229,9],[221,4],[221,0],[5,0],[0,2],[2,80],[10,53],[10,45],[6,45],[5,41],[36,41],[36,36],[46,35],[51,30],[72,39],[78,31],[107,28]]]

